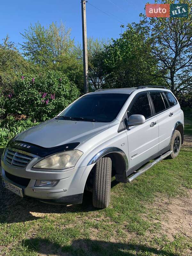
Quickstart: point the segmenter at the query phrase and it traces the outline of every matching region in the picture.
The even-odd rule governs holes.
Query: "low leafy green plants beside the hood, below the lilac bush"
[[[6,146],[16,134],[34,126],[39,123],[34,123],[30,118],[27,120],[15,120],[14,116],[5,118],[0,123],[0,147]]]

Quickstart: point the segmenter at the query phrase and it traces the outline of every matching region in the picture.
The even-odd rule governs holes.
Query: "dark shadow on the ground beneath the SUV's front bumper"
[[[111,182],[111,187],[118,184]],[[0,179],[0,223],[37,220],[38,213],[92,212],[99,211],[92,206],[92,193],[84,191],[83,203],[73,205],[45,204],[38,199],[25,196],[21,198],[5,189]]]

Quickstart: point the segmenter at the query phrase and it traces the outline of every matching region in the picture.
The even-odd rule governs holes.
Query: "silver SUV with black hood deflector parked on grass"
[[[111,175],[131,182],[165,157],[175,158],[183,131],[183,111],[166,87],[97,90],[7,144],[3,186],[55,204],[80,204],[88,190],[93,205],[106,208]]]

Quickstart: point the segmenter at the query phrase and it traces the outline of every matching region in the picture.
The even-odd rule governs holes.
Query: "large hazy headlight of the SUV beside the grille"
[[[76,165],[77,161],[82,155],[83,152],[79,150],[71,150],[57,153],[55,155],[48,156],[43,160],[40,160],[33,166],[33,168],[54,170],[71,168]]]

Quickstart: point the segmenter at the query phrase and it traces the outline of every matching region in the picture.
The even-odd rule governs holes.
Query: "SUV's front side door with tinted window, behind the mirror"
[[[146,122],[130,126],[127,130],[129,147],[129,169],[158,152],[158,124],[151,109],[147,92],[138,93],[130,104],[127,118],[134,114],[145,116]]]

